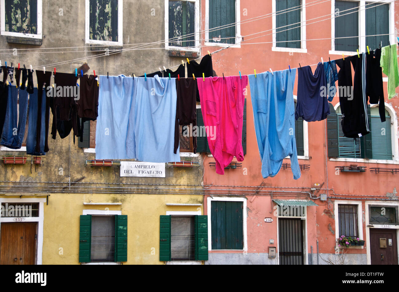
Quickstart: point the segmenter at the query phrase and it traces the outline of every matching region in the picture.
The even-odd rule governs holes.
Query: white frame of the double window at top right
[[[364,5],[371,2],[387,3],[389,4],[389,41],[391,44],[395,43],[395,3],[390,0],[345,0],[359,2],[359,53],[366,49],[366,10]],[[350,11],[352,12],[352,11]],[[335,0],[331,0],[331,50],[328,51],[331,55],[354,55],[356,51],[336,51],[335,50]],[[388,44],[383,44],[383,46]]]

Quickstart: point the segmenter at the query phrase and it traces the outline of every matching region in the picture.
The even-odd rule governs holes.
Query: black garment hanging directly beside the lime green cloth
[[[379,117],[385,122],[384,86],[382,82],[382,68],[379,66],[381,49],[366,53],[366,96],[370,104],[378,104]]]

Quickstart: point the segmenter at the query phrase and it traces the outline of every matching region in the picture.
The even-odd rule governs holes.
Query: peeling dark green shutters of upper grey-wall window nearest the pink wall
[[[169,1],[169,45],[195,46],[195,1]]]

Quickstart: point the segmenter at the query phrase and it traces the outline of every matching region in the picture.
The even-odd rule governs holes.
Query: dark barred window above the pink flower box
[[[358,205],[338,204],[339,236],[359,237]]]

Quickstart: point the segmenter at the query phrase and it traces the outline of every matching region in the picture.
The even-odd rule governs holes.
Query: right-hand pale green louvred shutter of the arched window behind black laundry
[[[381,123],[378,108],[371,109],[371,134],[368,135],[372,139],[373,159],[392,160],[391,117],[386,110],[385,119]]]

